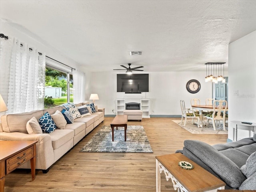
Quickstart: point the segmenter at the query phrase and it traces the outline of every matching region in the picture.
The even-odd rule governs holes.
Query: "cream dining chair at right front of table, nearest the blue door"
[[[213,113],[204,115],[204,118],[211,119],[214,131],[216,131],[215,121],[219,122],[222,120],[223,130],[226,131],[226,109],[228,107],[228,102],[226,100],[215,100],[213,103]]]

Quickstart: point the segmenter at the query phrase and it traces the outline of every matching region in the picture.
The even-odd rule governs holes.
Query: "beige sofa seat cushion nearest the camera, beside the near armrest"
[[[56,129],[54,132],[49,134],[52,139],[52,147],[56,149],[63,144],[67,143],[74,137],[74,130],[71,129]]]

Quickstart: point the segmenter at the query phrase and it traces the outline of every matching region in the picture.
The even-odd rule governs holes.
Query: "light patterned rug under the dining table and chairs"
[[[172,120],[174,123],[177,123],[180,125],[180,120]],[[187,121],[186,122],[186,127],[184,127],[184,121],[182,122],[182,127],[183,129],[186,129],[192,134],[228,134],[228,127],[226,126],[226,131],[223,130],[222,124],[220,127],[216,125],[216,131],[213,130],[213,125],[212,122],[206,123],[206,126],[203,127],[197,127],[197,122],[194,121],[194,125],[192,124],[192,121]]]

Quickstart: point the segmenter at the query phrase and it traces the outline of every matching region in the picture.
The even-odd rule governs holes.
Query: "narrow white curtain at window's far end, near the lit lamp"
[[[78,69],[73,71],[74,103],[85,101],[85,73]]]

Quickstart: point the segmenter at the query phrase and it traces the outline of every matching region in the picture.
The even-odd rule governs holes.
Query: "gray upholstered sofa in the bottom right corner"
[[[181,152],[226,183],[226,189],[256,190],[256,134],[232,143],[210,146],[184,141]]]

